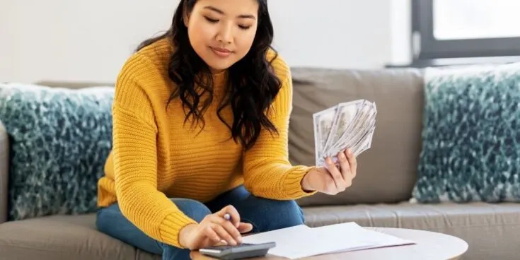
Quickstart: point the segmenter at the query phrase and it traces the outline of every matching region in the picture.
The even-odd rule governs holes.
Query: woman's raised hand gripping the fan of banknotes
[[[316,167],[304,176],[301,180],[304,190],[335,195],[352,185],[352,179],[356,177],[357,160],[351,150],[337,154],[339,167],[330,158],[326,158],[325,164],[325,167]]]

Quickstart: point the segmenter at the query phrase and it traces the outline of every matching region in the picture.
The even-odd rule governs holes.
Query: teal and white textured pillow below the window
[[[520,201],[520,64],[427,69],[413,198]]]

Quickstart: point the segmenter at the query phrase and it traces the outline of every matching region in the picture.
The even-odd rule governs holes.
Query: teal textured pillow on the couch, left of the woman
[[[112,146],[113,88],[0,84],[11,141],[9,220],[96,210]]]

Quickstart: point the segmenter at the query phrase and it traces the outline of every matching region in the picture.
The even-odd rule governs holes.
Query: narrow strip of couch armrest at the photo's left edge
[[[0,121],[0,224],[8,217],[8,170],[9,139],[4,124]]]

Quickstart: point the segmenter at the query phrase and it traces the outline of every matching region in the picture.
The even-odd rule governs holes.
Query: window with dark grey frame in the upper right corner
[[[520,56],[520,1],[411,1],[415,62]]]

